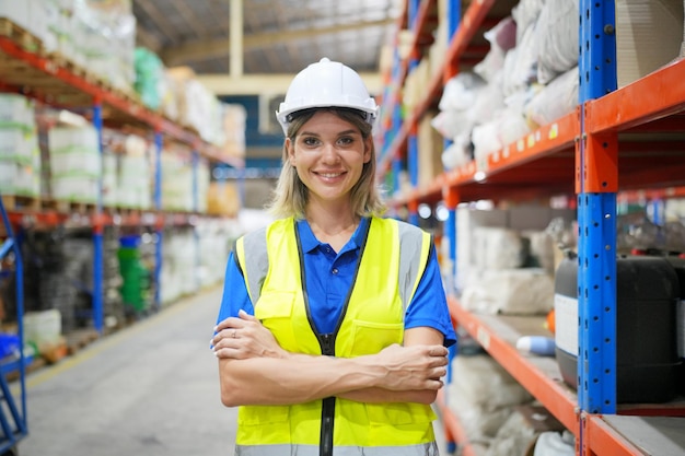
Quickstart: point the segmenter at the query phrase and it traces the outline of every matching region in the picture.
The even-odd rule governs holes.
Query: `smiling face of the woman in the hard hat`
[[[287,139],[288,159],[320,201],[347,200],[371,160],[372,139],[363,139],[352,124],[328,112],[316,113],[294,139]]]

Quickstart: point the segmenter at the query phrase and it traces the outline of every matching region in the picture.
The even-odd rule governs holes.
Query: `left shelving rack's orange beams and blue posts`
[[[93,321],[95,330],[104,330],[103,308],[103,231],[107,225],[153,229],[156,239],[154,283],[155,307],[160,305],[159,278],[162,267],[162,236],[165,226],[188,225],[195,213],[165,212],[161,204],[161,154],[164,141],[182,143],[191,150],[194,191],[197,192],[197,157],[243,167],[242,159],[222,153],[220,148],[204,141],[190,127],[167,118],[161,112],[144,106],[137,96],[118,90],[58,54],[48,54],[42,42],[8,19],[0,17],[0,91],[21,93],[47,105],[90,113],[91,121],[101,137],[105,124],[130,127],[151,132],[154,137],[156,168],[154,169],[153,209],[149,211],[106,208],[101,191],[94,208],[88,208],[86,225],[93,230],[94,278]],[[102,151],[102,150],[101,150]],[[23,199],[18,199],[23,201]],[[194,197],[197,210],[197,195]],[[37,203],[36,203],[37,202]],[[51,202],[51,201],[50,201]],[[26,220],[34,225],[56,226],[70,223],[68,210],[56,210],[54,204],[42,204],[39,198],[27,204],[8,208],[9,220],[21,226]],[[79,221],[83,223],[83,218]]]

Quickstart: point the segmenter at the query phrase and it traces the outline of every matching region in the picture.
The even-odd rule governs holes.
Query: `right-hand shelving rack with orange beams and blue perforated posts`
[[[419,203],[442,201],[450,211],[445,235],[456,245],[455,208],[479,199],[530,200],[576,194],[579,222],[579,255],[588,267],[579,270],[580,389],[566,386],[556,361],[525,355],[515,339],[525,332],[515,318],[475,315],[465,311],[456,295],[449,296],[456,325],[473,336],[492,358],[539,400],[577,439],[580,455],[682,454],[685,405],[617,405],[615,385],[615,220],[617,198],[667,198],[683,195],[685,154],[682,135],[655,140],[654,133],[685,131],[685,59],[617,89],[613,1],[580,0],[579,106],[574,113],[526,135],[491,154],[487,163],[474,162],[438,176],[418,188],[413,175],[418,151],[416,125],[437,105],[443,84],[458,71],[464,50],[483,26],[496,1],[469,3],[461,14],[460,3],[449,1],[450,20],[462,16],[442,65],[416,107],[400,114],[400,89],[416,60],[431,43],[426,36],[436,26],[436,0],[407,0],[398,28],[414,33],[409,57],[395,54],[388,90],[383,96],[381,119],[385,148],[380,153],[379,177],[394,184],[394,208],[407,208],[416,221]],[[652,135],[648,148],[636,138]],[[398,192],[397,173],[406,162],[413,189]],[[387,179],[387,174],[394,174]],[[620,176],[620,186],[618,177]],[[619,197],[617,197],[619,195]],[[452,226],[452,229],[449,229]],[[455,247],[450,258],[455,264]],[[587,259],[587,261],[585,261]],[[596,278],[608,277],[604,282]],[[596,283],[595,283],[596,282]],[[542,321],[541,321],[542,324]],[[530,325],[529,325],[530,326]],[[597,350],[602,347],[601,350]],[[583,386],[584,385],[584,386]],[[449,449],[475,454],[446,393],[439,396]],[[663,453],[665,452],[665,453]],[[671,453],[669,453],[671,452]]]

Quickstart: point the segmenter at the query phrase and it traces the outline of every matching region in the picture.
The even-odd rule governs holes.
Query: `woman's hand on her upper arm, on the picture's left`
[[[217,358],[246,360],[251,358],[286,358],[276,338],[262,323],[245,311],[229,317],[214,328],[211,339]]]

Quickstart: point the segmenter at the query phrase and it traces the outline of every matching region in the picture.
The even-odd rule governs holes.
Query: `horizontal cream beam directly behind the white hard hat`
[[[369,92],[383,94],[380,73],[360,73]],[[231,78],[229,74],[197,74],[196,79],[217,96],[285,94],[294,74],[243,74]]]

